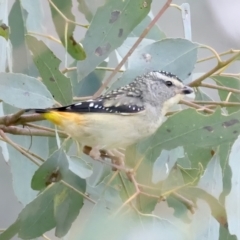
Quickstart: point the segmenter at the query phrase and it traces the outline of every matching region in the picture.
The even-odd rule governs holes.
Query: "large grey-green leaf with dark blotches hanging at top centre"
[[[98,8],[82,41],[87,58],[78,62],[79,80],[121,46],[134,27],[147,16],[150,6],[151,0],[108,0],[104,6]]]

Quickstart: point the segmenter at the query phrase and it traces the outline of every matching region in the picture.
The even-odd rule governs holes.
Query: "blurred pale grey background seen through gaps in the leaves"
[[[7,0],[6,0],[7,1]],[[43,31],[45,34],[50,34],[57,37],[54,26],[51,22],[50,10],[48,7],[47,0],[42,1],[42,11],[43,11]],[[4,1],[0,1],[1,4]],[[11,7],[14,3],[13,0],[8,2],[8,12],[10,12]],[[22,2],[27,2],[26,0]],[[76,0],[73,1],[73,13],[76,16],[76,21],[81,23],[87,23],[84,16],[78,11],[78,3]],[[91,1],[94,3],[94,1]],[[103,3],[104,1],[95,0],[96,7]],[[152,13],[155,16],[159,9],[165,1],[153,0],[152,3]],[[229,49],[240,49],[240,0],[201,0],[201,1],[182,1],[175,0],[174,4],[181,5],[182,3],[189,3],[191,9],[191,23],[192,23],[192,41],[201,44],[209,45],[214,48],[218,53],[227,51]],[[1,16],[0,16],[1,20]],[[173,38],[183,38],[183,24],[181,12],[174,7],[169,8],[164,15],[158,21],[158,26],[167,37]],[[76,39],[81,39],[84,36],[84,30],[82,28],[77,28],[75,33]],[[64,50],[61,46],[56,46],[51,41],[48,42],[49,47],[54,51],[54,53],[64,59]],[[19,51],[21,51],[19,46]],[[199,58],[211,56],[212,53],[207,50],[200,50]],[[14,59],[13,59],[14,61]],[[211,69],[215,60],[207,61],[205,63],[197,64],[195,73],[206,72]],[[22,62],[22,68],[26,67],[27,62]],[[111,64],[114,66],[114,63]],[[239,68],[236,65],[232,65],[231,72],[239,73]],[[0,228],[7,228],[12,224],[18,213],[22,209],[22,205],[17,201],[12,189],[12,180],[10,168],[4,161],[2,156],[0,156]],[[86,208],[85,208],[86,209]],[[17,238],[15,238],[17,239]]]

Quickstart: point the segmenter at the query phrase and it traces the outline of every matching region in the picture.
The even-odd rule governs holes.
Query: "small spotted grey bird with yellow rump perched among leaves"
[[[94,99],[26,112],[42,114],[98,158],[98,150],[125,149],[152,135],[170,107],[192,92],[176,75],[150,71]]]

